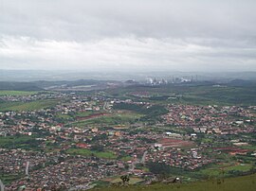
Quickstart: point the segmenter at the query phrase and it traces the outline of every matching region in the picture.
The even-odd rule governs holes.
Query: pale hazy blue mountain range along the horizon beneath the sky
[[[146,78],[193,78],[197,80],[230,81],[233,79],[256,80],[256,72],[86,72],[86,71],[39,71],[39,70],[0,70],[0,81],[62,81],[99,79],[99,80],[145,80]]]

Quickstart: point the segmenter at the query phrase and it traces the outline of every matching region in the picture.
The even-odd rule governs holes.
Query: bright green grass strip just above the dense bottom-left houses
[[[103,158],[103,159],[116,159],[117,156],[111,152],[111,151],[92,151],[89,149],[82,149],[82,148],[69,148],[65,151],[67,154],[71,155],[82,155],[82,156],[96,156],[98,158]]]

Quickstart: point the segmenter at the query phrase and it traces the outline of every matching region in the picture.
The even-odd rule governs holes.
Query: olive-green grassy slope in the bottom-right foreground
[[[99,191],[255,191],[256,175],[191,183],[155,183],[152,185],[128,185],[95,188]]]

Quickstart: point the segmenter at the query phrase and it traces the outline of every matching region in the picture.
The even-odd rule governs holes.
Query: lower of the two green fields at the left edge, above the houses
[[[56,99],[37,100],[31,102],[4,102],[0,103],[0,112],[32,111],[53,107],[58,103]]]

